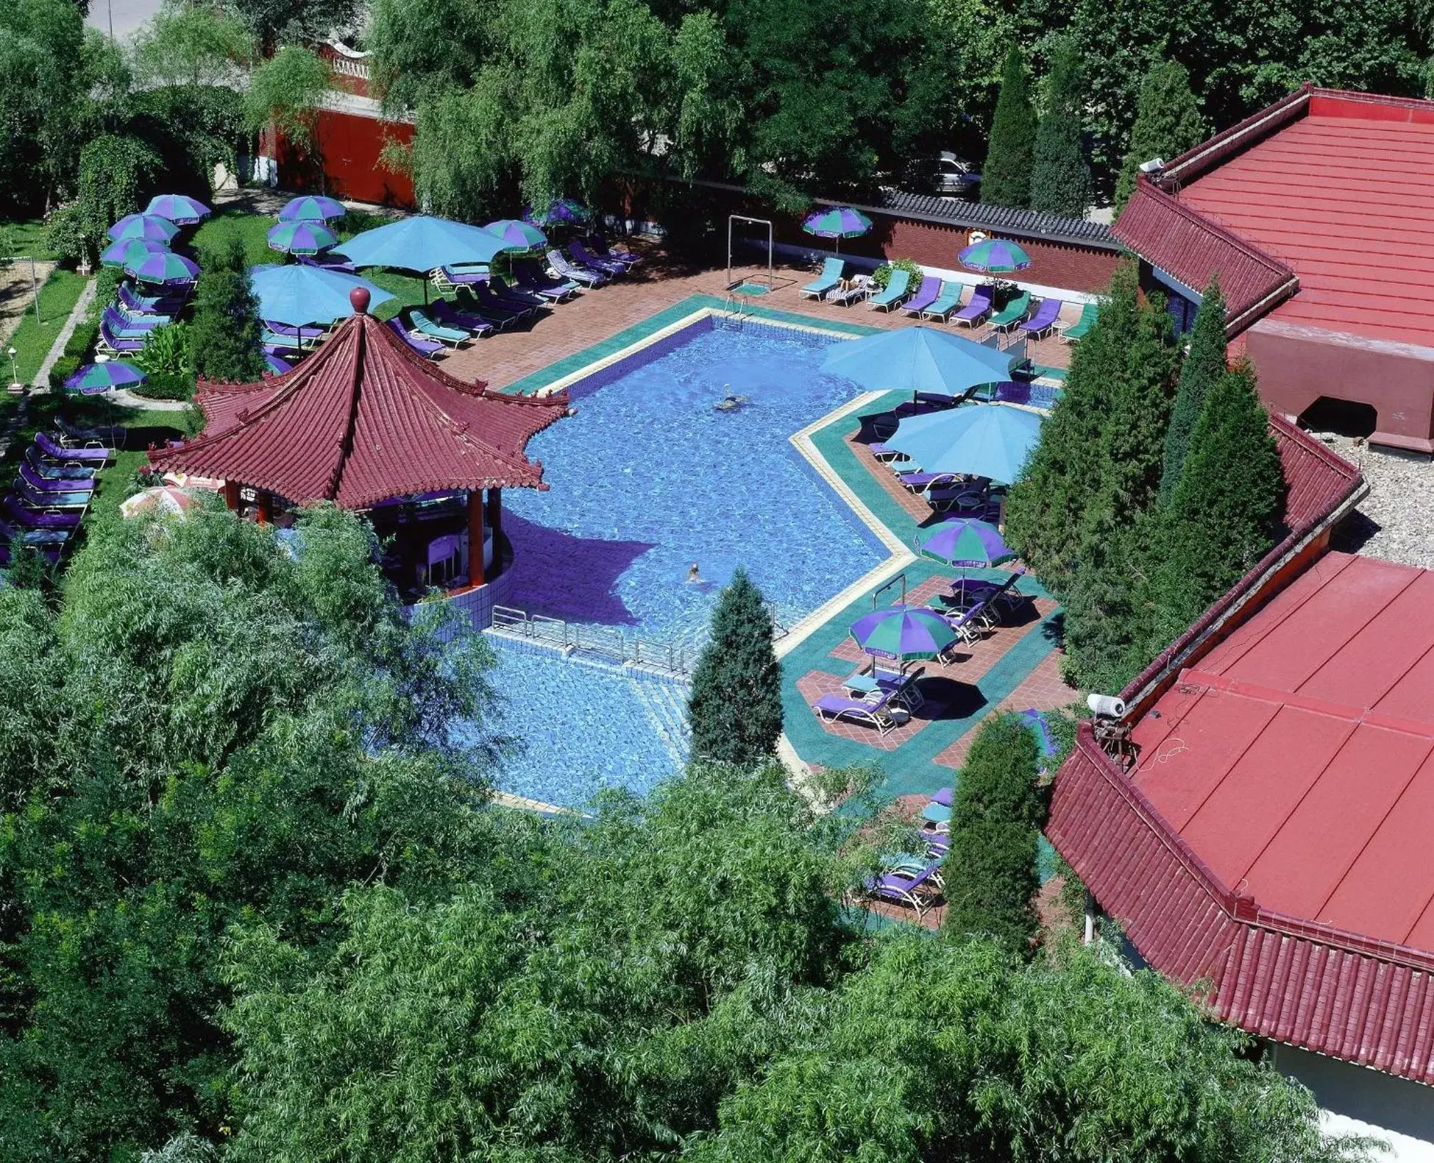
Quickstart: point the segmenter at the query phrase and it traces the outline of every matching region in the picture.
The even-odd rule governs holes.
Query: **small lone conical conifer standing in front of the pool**
[[[687,704],[694,759],[750,764],[782,734],[782,667],[771,614],[746,571],[733,574],[713,611],[711,641],[697,660]]]

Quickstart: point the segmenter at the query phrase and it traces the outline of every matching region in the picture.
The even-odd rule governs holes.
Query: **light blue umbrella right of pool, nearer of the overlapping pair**
[[[926,472],[964,473],[1011,483],[1041,439],[1041,416],[1005,404],[969,404],[909,416],[886,437]]]

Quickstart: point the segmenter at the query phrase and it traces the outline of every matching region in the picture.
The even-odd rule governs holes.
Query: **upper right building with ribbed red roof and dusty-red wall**
[[[1230,333],[1288,414],[1321,396],[1434,450],[1434,102],[1305,87],[1169,162],[1114,234]]]

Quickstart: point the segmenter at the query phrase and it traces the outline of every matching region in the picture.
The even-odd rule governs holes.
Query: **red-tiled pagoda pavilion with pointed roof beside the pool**
[[[369,315],[367,291],[351,300],[354,315],[293,371],[201,383],[204,432],[152,450],[149,463],[222,479],[228,506],[239,511],[251,495],[260,521],[321,500],[361,511],[393,538],[386,566],[400,588],[440,569],[483,585],[499,561],[502,490],[548,488],[523,447],[566,413],[568,397],[463,383]]]

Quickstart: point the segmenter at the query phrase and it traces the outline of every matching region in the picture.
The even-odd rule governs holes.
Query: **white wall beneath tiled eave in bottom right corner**
[[[1276,1044],[1273,1060],[1315,1093],[1329,1130],[1381,1136],[1387,1160],[1434,1163],[1434,1087],[1292,1045]]]

